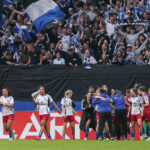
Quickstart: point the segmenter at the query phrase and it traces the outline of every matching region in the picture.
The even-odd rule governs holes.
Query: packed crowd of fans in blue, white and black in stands
[[[150,0],[56,0],[66,17],[37,33],[20,0],[4,6],[0,64],[150,65]]]

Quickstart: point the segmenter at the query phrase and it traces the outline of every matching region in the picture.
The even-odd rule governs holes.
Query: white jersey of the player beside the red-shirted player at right
[[[142,99],[141,97],[130,97],[129,101],[132,104],[132,108],[131,108],[131,115],[137,115],[137,114],[141,114],[142,113],[142,109],[141,109],[141,104]]]

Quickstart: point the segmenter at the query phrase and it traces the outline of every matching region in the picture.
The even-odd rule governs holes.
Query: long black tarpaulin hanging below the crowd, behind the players
[[[31,101],[30,95],[39,85],[44,85],[55,101],[60,101],[67,89],[73,90],[73,99],[80,101],[89,85],[106,84],[109,89],[125,91],[136,82],[150,87],[149,66],[96,65],[92,69],[85,69],[83,66],[71,68],[59,65],[41,67],[0,65],[0,90],[10,88],[15,99],[23,101]]]

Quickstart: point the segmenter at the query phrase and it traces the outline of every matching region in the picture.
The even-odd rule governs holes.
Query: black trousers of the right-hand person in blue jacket
[[[120,109],[115,110],[115,136],[120,139],[121,131],[120,131],[120,121],[122,123],[123,135],[127,137],[127,116],[126,110]]]

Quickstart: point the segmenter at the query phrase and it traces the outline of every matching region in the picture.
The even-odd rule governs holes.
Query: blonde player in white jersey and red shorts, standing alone
[[[73,101],[71,99],[73,92],[71,90],[67,90],[65,92],[65,97],[61,100],[62,106],[62,122],[63,122],[63,130],[62,130],[62,138],[65,139],[67,123],[70,123],[72,130],[72,139],[75,139],[75,128],[74,128],[74,114],[77,113],[74,111]]]

